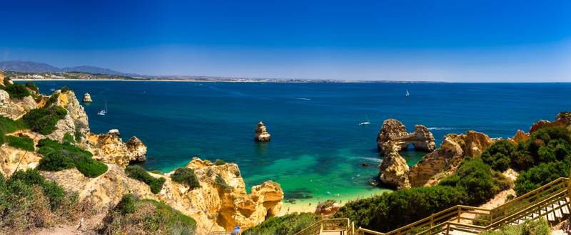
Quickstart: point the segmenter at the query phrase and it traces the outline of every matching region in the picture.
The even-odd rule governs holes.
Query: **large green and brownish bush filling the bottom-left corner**
[[[80,210],[77,194],[65,192],[36,170],[19,170],[9,179],[0,174],[0,230],[6,234],[71,221]]]

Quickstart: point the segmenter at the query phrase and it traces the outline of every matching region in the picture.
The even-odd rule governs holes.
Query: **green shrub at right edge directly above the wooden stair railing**
[[[565,162],[547,162],[521,172],[515,180],[514,190],[518,196],[552,182],[559,177],[569,177],[570,165]]]

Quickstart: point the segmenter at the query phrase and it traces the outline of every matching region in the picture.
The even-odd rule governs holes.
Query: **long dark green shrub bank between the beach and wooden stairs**
[[[466,199],[468,194],[461,187],[415,187],[348,202],[333,217],[349,218],[355,221],[355,226],[386,232],[443,209],[466,204]]]

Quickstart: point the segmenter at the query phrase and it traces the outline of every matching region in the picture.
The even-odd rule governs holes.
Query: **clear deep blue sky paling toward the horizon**
[[[571,81],[571,1],[4,1],[1,60],[150,75]]]

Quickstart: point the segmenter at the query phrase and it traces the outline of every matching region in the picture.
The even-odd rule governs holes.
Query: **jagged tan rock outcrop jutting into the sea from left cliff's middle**
[[[93,153],[94,159],[121,167],[126,167],[129,162],[146,160],[147,147],[143,142],[134,136],[123,142],[118,131],[107,134],[89,133],[86,147]]]

